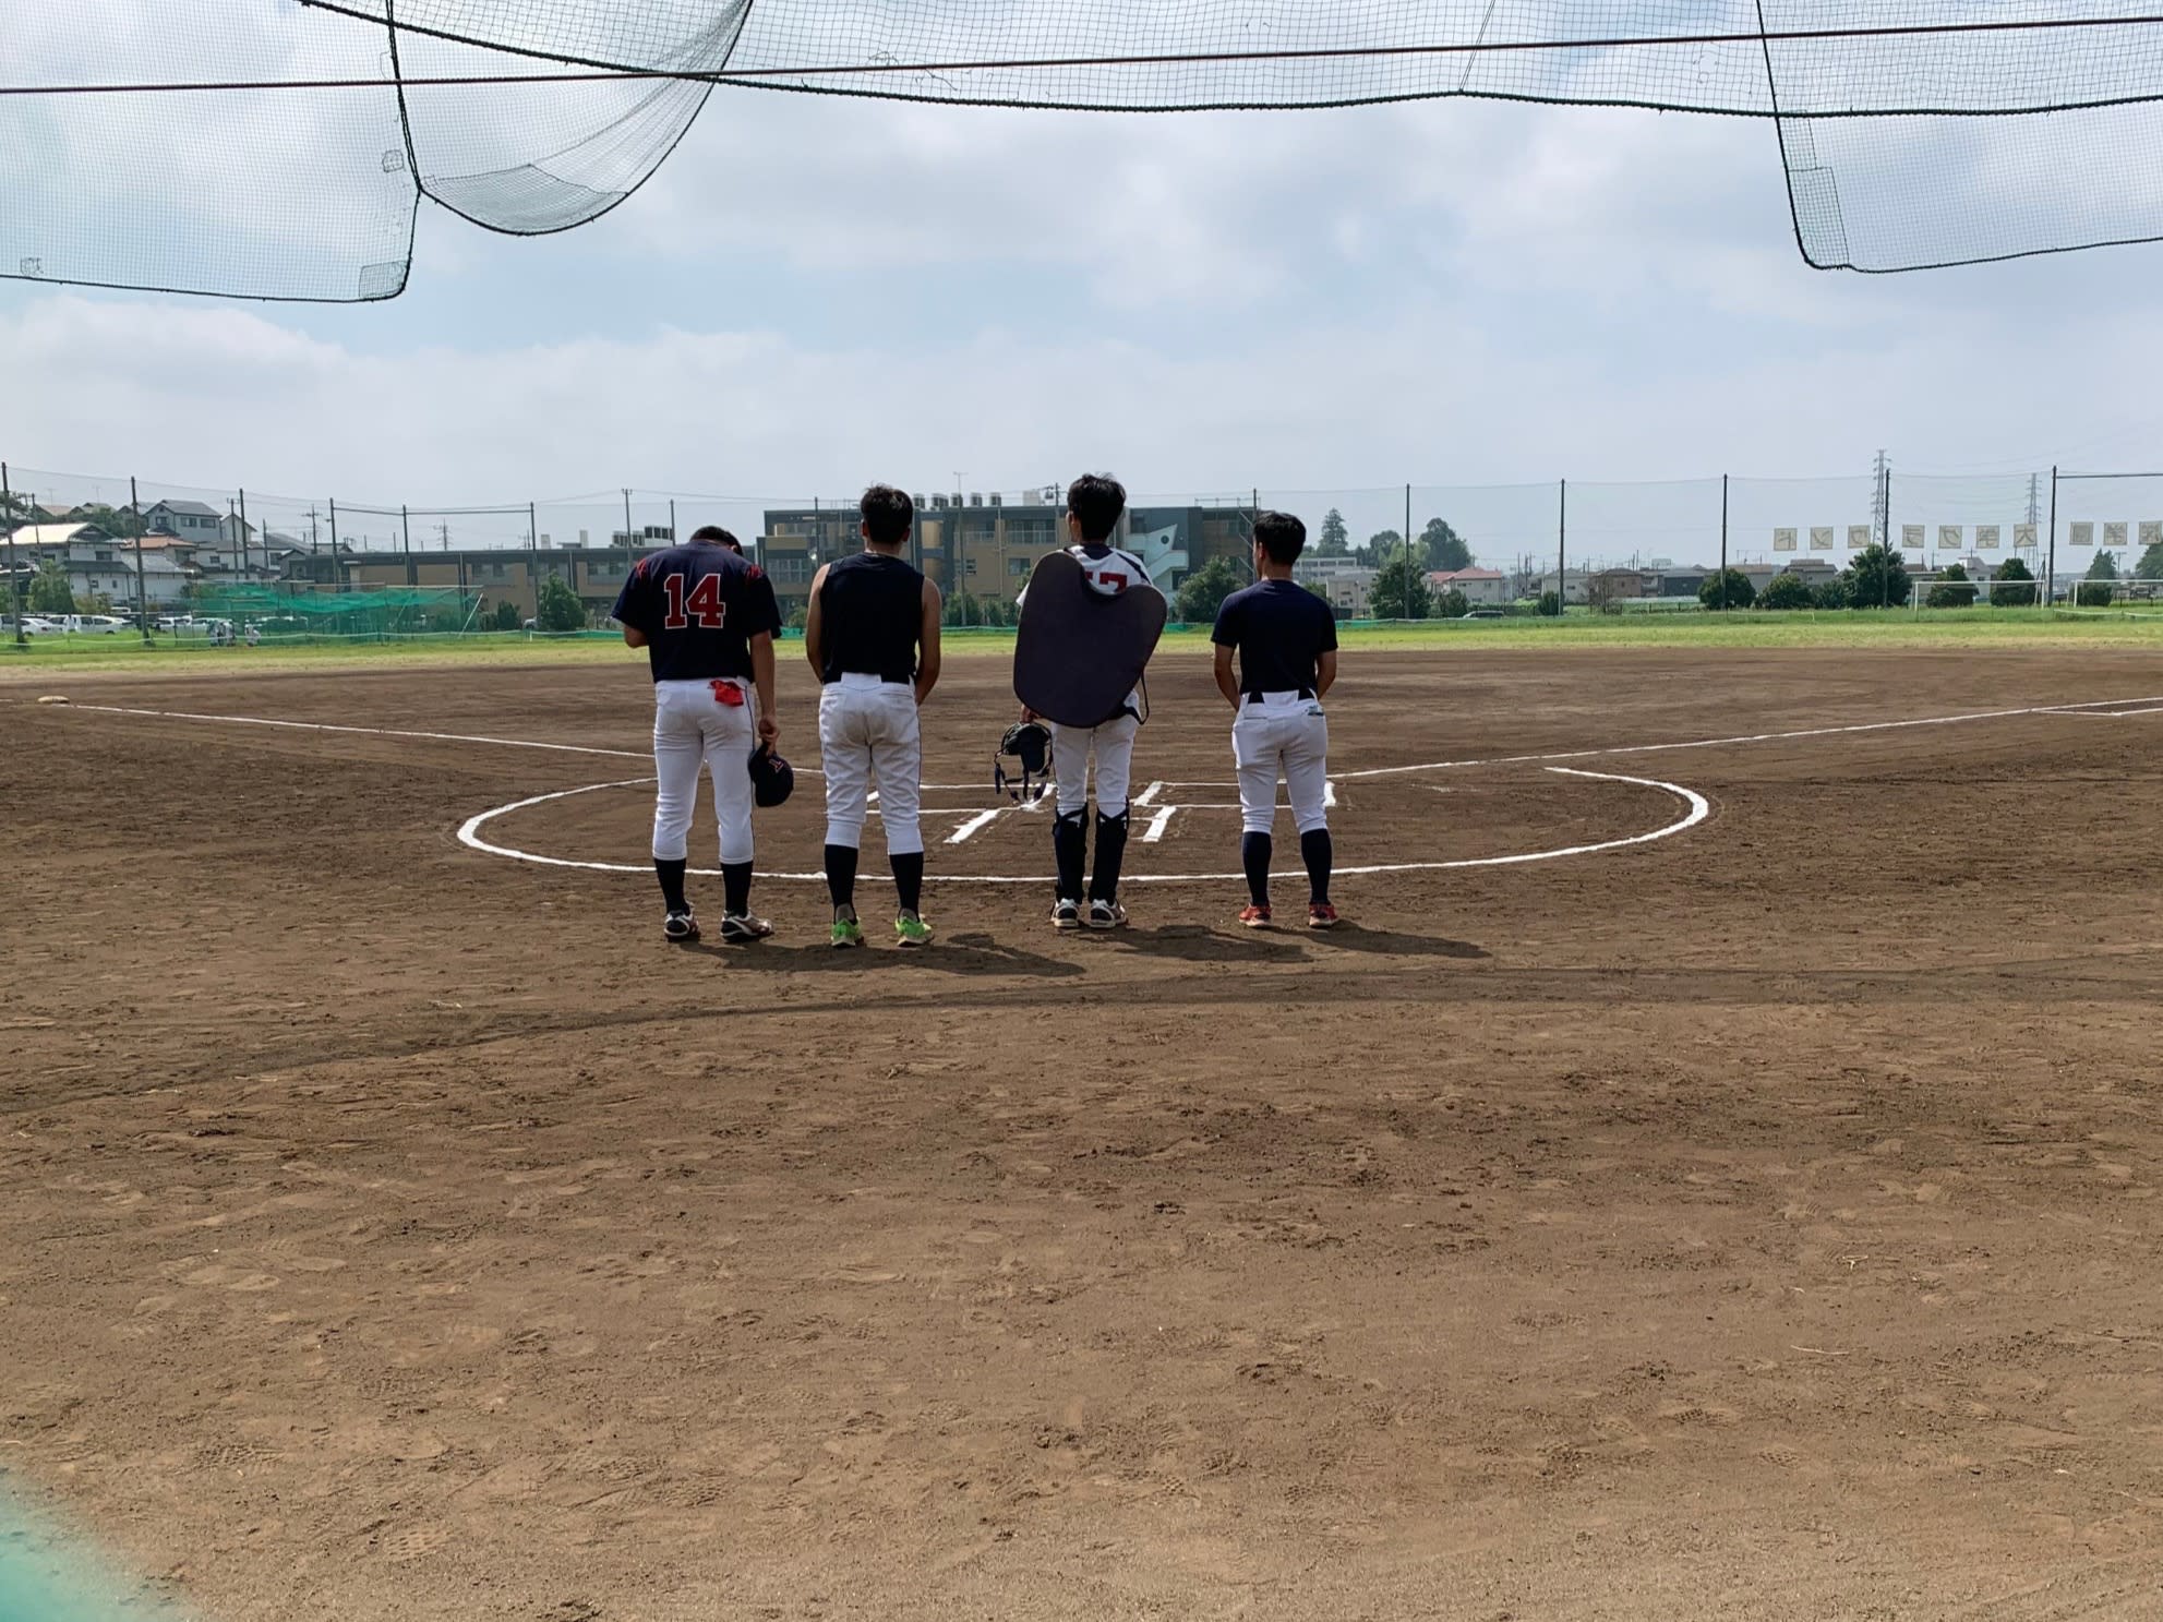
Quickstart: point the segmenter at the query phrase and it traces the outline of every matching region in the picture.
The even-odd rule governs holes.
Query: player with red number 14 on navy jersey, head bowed
[[[720,822],[722,941],[761,941],[774,926],[751,913],[751,753],[781,737],[774,720],[774,588],[746,564],[727,530],[640,558],[616,597],[623,640],[653,670],[653,872],[662,934],[696,941],[684,893],[699,770],[714,779]]]

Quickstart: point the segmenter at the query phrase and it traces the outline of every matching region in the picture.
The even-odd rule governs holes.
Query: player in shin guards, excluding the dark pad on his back
[[[1133,586],[1149,586],[1149,569],[1131,551],[1112,545],[1118,519],[1127,510],[1127,491],[1116,478],[1086,474],[1066,489],[1066,551],[1082,564],[1090,590],[1118,597]],[[1027,590],[1021,593],[1027,597]],[[1021,599],[1017,599],[1019,603]],[[1023,707],[1023,720],[1036,714]],[[1133,783],[1133,735],[1142,727],[1142,692],[1127,696],[1127,707],[1099,727],[1051,724],[1051,772],[1058,779],[1058,815],[1051,820],[1051,859],[1058,865],[1051,923],[1060,930],[1116,930],[1127,921],[1118,904],[1118,869],[1127,859],[1127,789]],[[1082,893],[1082,867],[1088,863],[1088,776],[1097,763],[1097,867]]]

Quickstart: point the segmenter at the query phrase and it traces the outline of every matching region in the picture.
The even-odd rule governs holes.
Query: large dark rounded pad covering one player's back
[[[1105,597],[1071,551],[1038,558],[1014,638],[1014,696],[1060,727],[1101,727],[1140,686],[1164,621],[1155,586]]]

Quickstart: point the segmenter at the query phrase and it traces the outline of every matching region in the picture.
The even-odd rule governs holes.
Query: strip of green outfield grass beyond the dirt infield
[[[1570,614],[1568,619],[1421,621],[1391,625],[1345,625],[1345,649],[1434,649],[1473,653],[1503,649],[1566,651],[1573,647],[1642,649],[1992,649],[1992,647],[2154,647],[2163,651],[2163,610],[2057,610],[1953,608],[1888,612],[1797,612],[1797,614]],[[947,629],[952,657],[988,657],[1012,649],[1014,634]],[[1175,627],[1164,638],[1170,653],[1209,647],[1203,627]],[[134,636],[39,638],[28,647],[0,644],[0,681],[52,675],[143,673],[240,675],[247,670],[411,668],[430,664],[638,664],[645,655],[614,636],[528,638],[446,636],[411,642],[266,642],[264,647],[212,649],[158,638],[143,647]],[[783,657],[800,657],[792,638]]]

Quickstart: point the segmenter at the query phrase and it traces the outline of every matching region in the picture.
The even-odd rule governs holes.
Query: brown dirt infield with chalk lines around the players
[[[662,945],[634,664],[0,694],[0,1471],[216,1622],[2159,1613],[2163,662],[1348,660],[1335,936],[954,882],[1001,675],[921,956]]]

